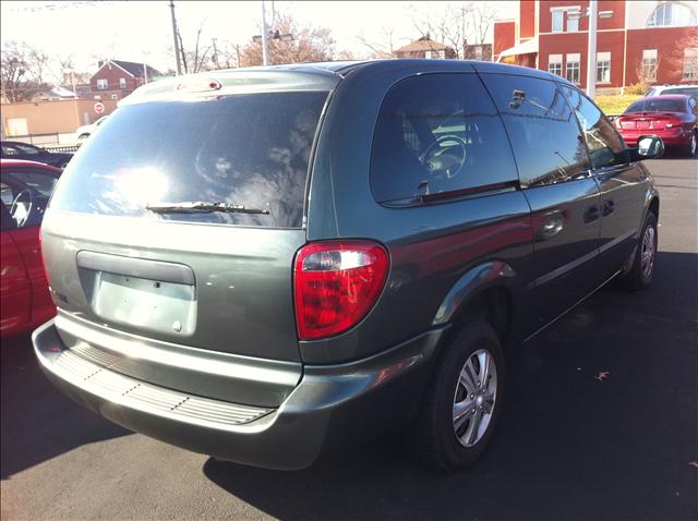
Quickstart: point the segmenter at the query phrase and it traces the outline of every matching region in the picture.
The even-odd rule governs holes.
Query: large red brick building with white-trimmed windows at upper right
[[[597,90],[698,83],[695,1],[599,1]],[[550,71],[586,88],[588,1],[519,1],[494,23],[493,60]],[[580,15],[581,14],[581,15]]]

